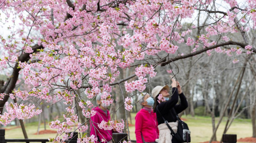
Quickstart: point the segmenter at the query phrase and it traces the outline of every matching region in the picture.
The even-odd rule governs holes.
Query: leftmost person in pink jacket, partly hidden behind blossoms
[[[101,142],[102,140],[104,140],[104,142],[101,142],[101,143],[112,143],[112,133],[116,131],[115,128],[114,130],[113,129],[104,130],[104,129],[99,129],[98,127],[98,123],[101,123],[101,121],[104,120],[108,122],[110,120],[110,114],[107,109],[109,105],[106,106],[101,102],[101,95],[102,94],[100,93],[96,96],[96,101],[99,107],[96,107],[94,109],[92,108],[92,110],[95,110],[97,113],[91,117],[90,136],[95,135],[95,137],[98,137],[98,143]]]

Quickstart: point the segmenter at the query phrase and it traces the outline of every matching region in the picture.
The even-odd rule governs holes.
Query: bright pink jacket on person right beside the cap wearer
[[[157,126],[157,115],[153,110],[149,113],[145,109],[141,109],[135,116],[135,135],[137,143],[143,143],[141,133],[145,142],[155,142],[155,139],[159,137]]]

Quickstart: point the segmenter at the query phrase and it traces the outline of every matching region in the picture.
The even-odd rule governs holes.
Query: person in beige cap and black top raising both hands
[[[155,99],[154,112],[157,114],[157,122],[159,129],[158,143],[179,143],[175,137],[172,137],[170,129],[164,122],[168,121],[174,132],[177,132],[177,118],[176,115],[188,107],[188,102],[185,95],[182,93],[181,86],[175,79],[172,79],[172,95],[170,96],[169,86],[156,86],[152,90],[152,97]],[[159,95],[163,96],[158,99]],[[169,99],[171,97],[171,99]],[[178,103],[180,97],[180,104]],[[164,98],[165,101],[161,100]],[[158,102],[160,100],[160,103]],[[177,104],[177,105],[176,105]],[[174,109],[174,110],[173,110]],[[164,119],[163,119],[164,117]]]

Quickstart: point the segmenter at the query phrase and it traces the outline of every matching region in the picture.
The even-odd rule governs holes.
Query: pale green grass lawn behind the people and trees
[[[132,113],[132,124],[135,123],[134,117],[136,114]],[[191,143],[200,143],[208,141],[212,134],[211,127],[211,118],[210,117],[202,117],[202,116],[183,116],[182,118],[187,119],[186,123],[188,124],[189,129],[191,130]],[[224,130],[224,125],[226,118],[221,123],[218,131],[217,131],[217,140],[220,140],[221,135]],[[218,118],[216,119],[216,124],[218,122]],[[43,135],[33,135],[37,132],[38,123],[29,123],[26,124],[26,131],[30,139],[48,139],[49,137],[56,137],[56,133],[52,134],[43,134]],[[13,127],[7,127],[10,129]],[[40,130],[43,130],[43,124],[40,126]],[[49,130],[49,126],[46,125],[46,129]],[[52,129],[51,129],[52,130]],[[135,140],[135,127],[129,127],[130,136],[132,140]],[[235,119],[230,127],[229,134],[237,134],[237,139],[241,137],[251,137],[252,136],[252,123],[250,119]],[[6,139],[23,139],[23,133],[21,128],[6,130]]]

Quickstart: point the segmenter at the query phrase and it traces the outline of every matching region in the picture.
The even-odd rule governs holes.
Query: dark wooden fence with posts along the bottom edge
[[[17,143],[17,142],[41,142],[46,143],[49,142],[48,139],[5,139],[5,130],[0,129],[0,143]],[[73,137],[71,140],[67,140],[66,143],[76,143],[77,141],[77,133],[74,133],[75,137]],[[127,139],[127,133],[113,133],[113,143],[122,142],[123,140],[128,141]],[[223,134],[223,143],[236,143],[237,142],[237,136],[236,135],[230,135],[230,134]],[[136,140],[131,140],[132,143],[136,143]]]

